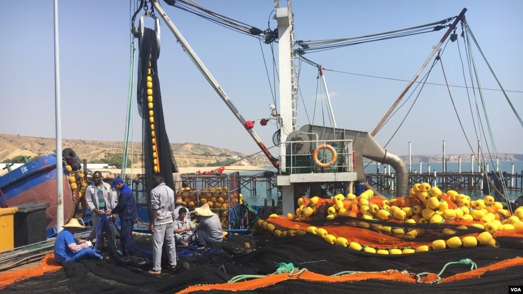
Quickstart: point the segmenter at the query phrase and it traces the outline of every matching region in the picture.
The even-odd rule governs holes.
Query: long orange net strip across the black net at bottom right
[[[450,276],[448,278],[440,279],[439,281],[442,283],[449,283],[454,281],[460,281],[460,280],[468,280],[468,279],[475,279],[481,277],[484,273],[487,271],[492,270],[501,270],[506,269],[513,266],[523,266],[523,258],[513,258],[513,259],[507,259],[505,261],[501,261],[495,264],[492,264],[490,266],[481,267],[475,270],[471,270],[470,272],[466,273],[460,273],[453,276]],[[408,274],[408,273],[400,273],[397,270],[389,270],[386,272],[380,272],[380,273],[355,273],[345,276],[325,276],[320,274],[315,274],[312,272],[294,272],[291,275],[289,274],[276,274],[276,275],[269,275],[262,278],[257,278],[254,280],[246,280],[242,282],[234,282],[234,283],[226,283],[226,284],[218,284],[218,285],[203,285],[203,286],[192,286],[187,289],[184,289],[182,291],[177,292],[176,294],[184,294],[184,293],[190,293],[195,291],[210,291],[210,290],[225,290],[225,291],[246,291],[246,290],[253,290],[258,288],[267,287],[270,285],[275,285],[279,282],[292,280],[292,279],[300,279],[300,280],[308,280],[308,281],[314,281],[314,282],[354,282],[354,281],[362,281],[362,280],[369,280],[369,279],[379,279],[379,280],[391,280],[395,282],[406,282],[406,283],[416,283],[416,282],[422,282],[422,283],[433,283],[438,281],[438,276],[434,273],[428,274],[424,277],[417,278],[414,274]]]

